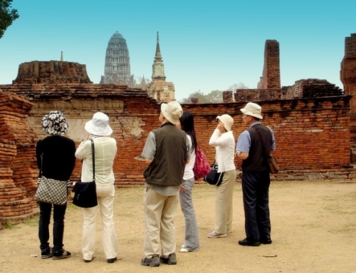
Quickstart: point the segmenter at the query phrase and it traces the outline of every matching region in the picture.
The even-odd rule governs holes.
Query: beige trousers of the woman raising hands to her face
[[[216,187],[215,200],[215,227],[214,231],[220,234],[232,232],[232,197],[236,183],[236,170],[224,172],[219,187]]]

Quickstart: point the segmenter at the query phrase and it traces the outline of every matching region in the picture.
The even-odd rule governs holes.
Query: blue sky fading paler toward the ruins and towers
[[[104,74],[115,31],[126,39],[131,73],[151,78],[156,34],[176,98],[256,88],[268,39],[280,45],[281,85],[326,79],[343,89],[345,37],[356,33],[356,1],[83,1],[14,0],[20,18],[0,39],[0,85],[19,64],[60,60],[85,64],[93,83]]]

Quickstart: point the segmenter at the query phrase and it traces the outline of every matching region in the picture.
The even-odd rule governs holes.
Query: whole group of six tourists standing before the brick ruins
[[[261,106],[247,103],[241,109],[248,130],[237,140],[231,131],[234,119],[230,115],[216,117],[216,129],[209,145],[216,148],[218,172],[223,172],[221,185],[216,187],[215,225],[209,238],[227,237],[232,232],[233,190],[236,182],[234,157],[242,159],[242,190],[245,212],[246,238],[244,246],[271,244],[271,222],[268,207],[270,185],[266,151],[275,150],[273,131],[261,124]],[[176,101],[162,103],[159,128],[152,130],[145,141],[140,158],[147,164],[144,172],[144,254],[141,264],[158,267],[160,263],[177,264],[174,217],[180,203],[185,220],[185,238],[179,252],[199,250],[197,218],[192,201],[194,163],[198,148],[192,113],[183,111]],[[84,262],[91,262],[95,254],[95,217],[100,210],[103,225],[103,249],[108,263],[117,260],[117,237],[113,222],[115,177],[112,166],[117,153],[116,141],[108,115],[98,112],[85,123],[90,134],[75,150],[73,140],[64,136],[68,123],[63,113],[54,110],[42,120],[43,130],[49,134],[38,140],[36,158],[43,175],[64,182],[69,181],[75,158],[82,160],[81,179],[93,179],[92,147],[95,145],[95,183],[98,206],[83,208],[82,254]],[[49,223],[53,206],[53,247],[49,240]],[[38,237],[43,259],[65,259],[70,252],[63,249],[64,215],[66,205],[39,202]]]

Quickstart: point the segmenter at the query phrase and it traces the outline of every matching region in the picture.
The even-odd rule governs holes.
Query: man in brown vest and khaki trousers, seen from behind
[[[182,113],[176,101],[162,103],[162,125],[149,133],[140,155],[149,164],[144,172],[143,198],[146,257],[141,264],[150,267],[158,267],[159,262],[177,264],[174,217],[184,168],[189,163],[189,139],[176,127]]]

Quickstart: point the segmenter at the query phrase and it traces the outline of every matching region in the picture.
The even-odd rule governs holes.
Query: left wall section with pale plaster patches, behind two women
[[[88,136],[85,123],[97,111],[110,118],[113,137],[117,140],[114,172],[117,185],[135,185],[143,182],[145,163],[134,160],[140,155],[147,134],[159,127],[159,104],[140,89],[128,89],[116,84],[33,84],[3,86],[17,94],[30,94],[34,103],[27,120],[37,133],[37,140],[47,135],[41,128],[41,118],[50,110],[61,110],[68,120],[67,136],[78,146]],[[33,155],[34,156],[34,155]],[[72,180],[80,176],[78,160]]]

